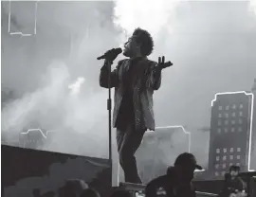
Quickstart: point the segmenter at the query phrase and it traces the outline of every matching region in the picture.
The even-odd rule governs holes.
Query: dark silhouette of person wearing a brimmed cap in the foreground
[[[177,156],[174,167],[169,167],[165,175],[152,180],[145,188],[146,197],[156,197],[158,191],[167,197],[195,197],[192,186],[194,170],[202,170],[192,153],[184,152]]]

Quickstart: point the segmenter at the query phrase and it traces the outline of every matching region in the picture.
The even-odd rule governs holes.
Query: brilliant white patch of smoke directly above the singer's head
[[[125,33],[131,35],[136,27],[141,27],[157,37],[163,27],[172,30],[172,24],[168,22],[174,16],[179,1],[119,0],[115,3],[114,23],[122,27]]]

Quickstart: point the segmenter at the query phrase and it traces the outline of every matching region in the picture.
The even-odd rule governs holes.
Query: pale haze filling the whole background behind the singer
[[[165,55],[174,63],[155,92],[156,125],[186,126],[192,152],[207,166],[209,133],[200,128],[210,126],[210,100],[217,92],[249,90],[256,77],[253,2],[40,2],[37,35],[19,39],[3,19],[2,87],[20,99],[3,109],[2,130],[18,133],[36,120],[85,134],[72,143],[59,137],[50,150],[106,157],[107,91],[99,87],[96,57],[144,27],[155,38],[150,58]],[[21,10],[17,20],[31,25]],[[85,79],[80,92],[70,95],[68,85],[78,78]]]

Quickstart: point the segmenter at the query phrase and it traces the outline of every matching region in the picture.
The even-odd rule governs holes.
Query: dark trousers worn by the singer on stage
[[[136,131],[134,124],[128,124],[124,129],[117,128],[119,163],[124,171],[125,182],[141,184],[137,172],[135,152],[142,141],[145,130]]]

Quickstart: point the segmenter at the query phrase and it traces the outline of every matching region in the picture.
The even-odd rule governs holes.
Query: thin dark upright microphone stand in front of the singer
[[[111,65],[112,61],[105,60],[104,65],[107,66],[108,69],[108,99],[107,99],[107,110],[108,110],[108,159],[111,167],[111,186],[112,186],[112,119],[111,119],[111,111],[112,111],[112,99],[111,99]]]

